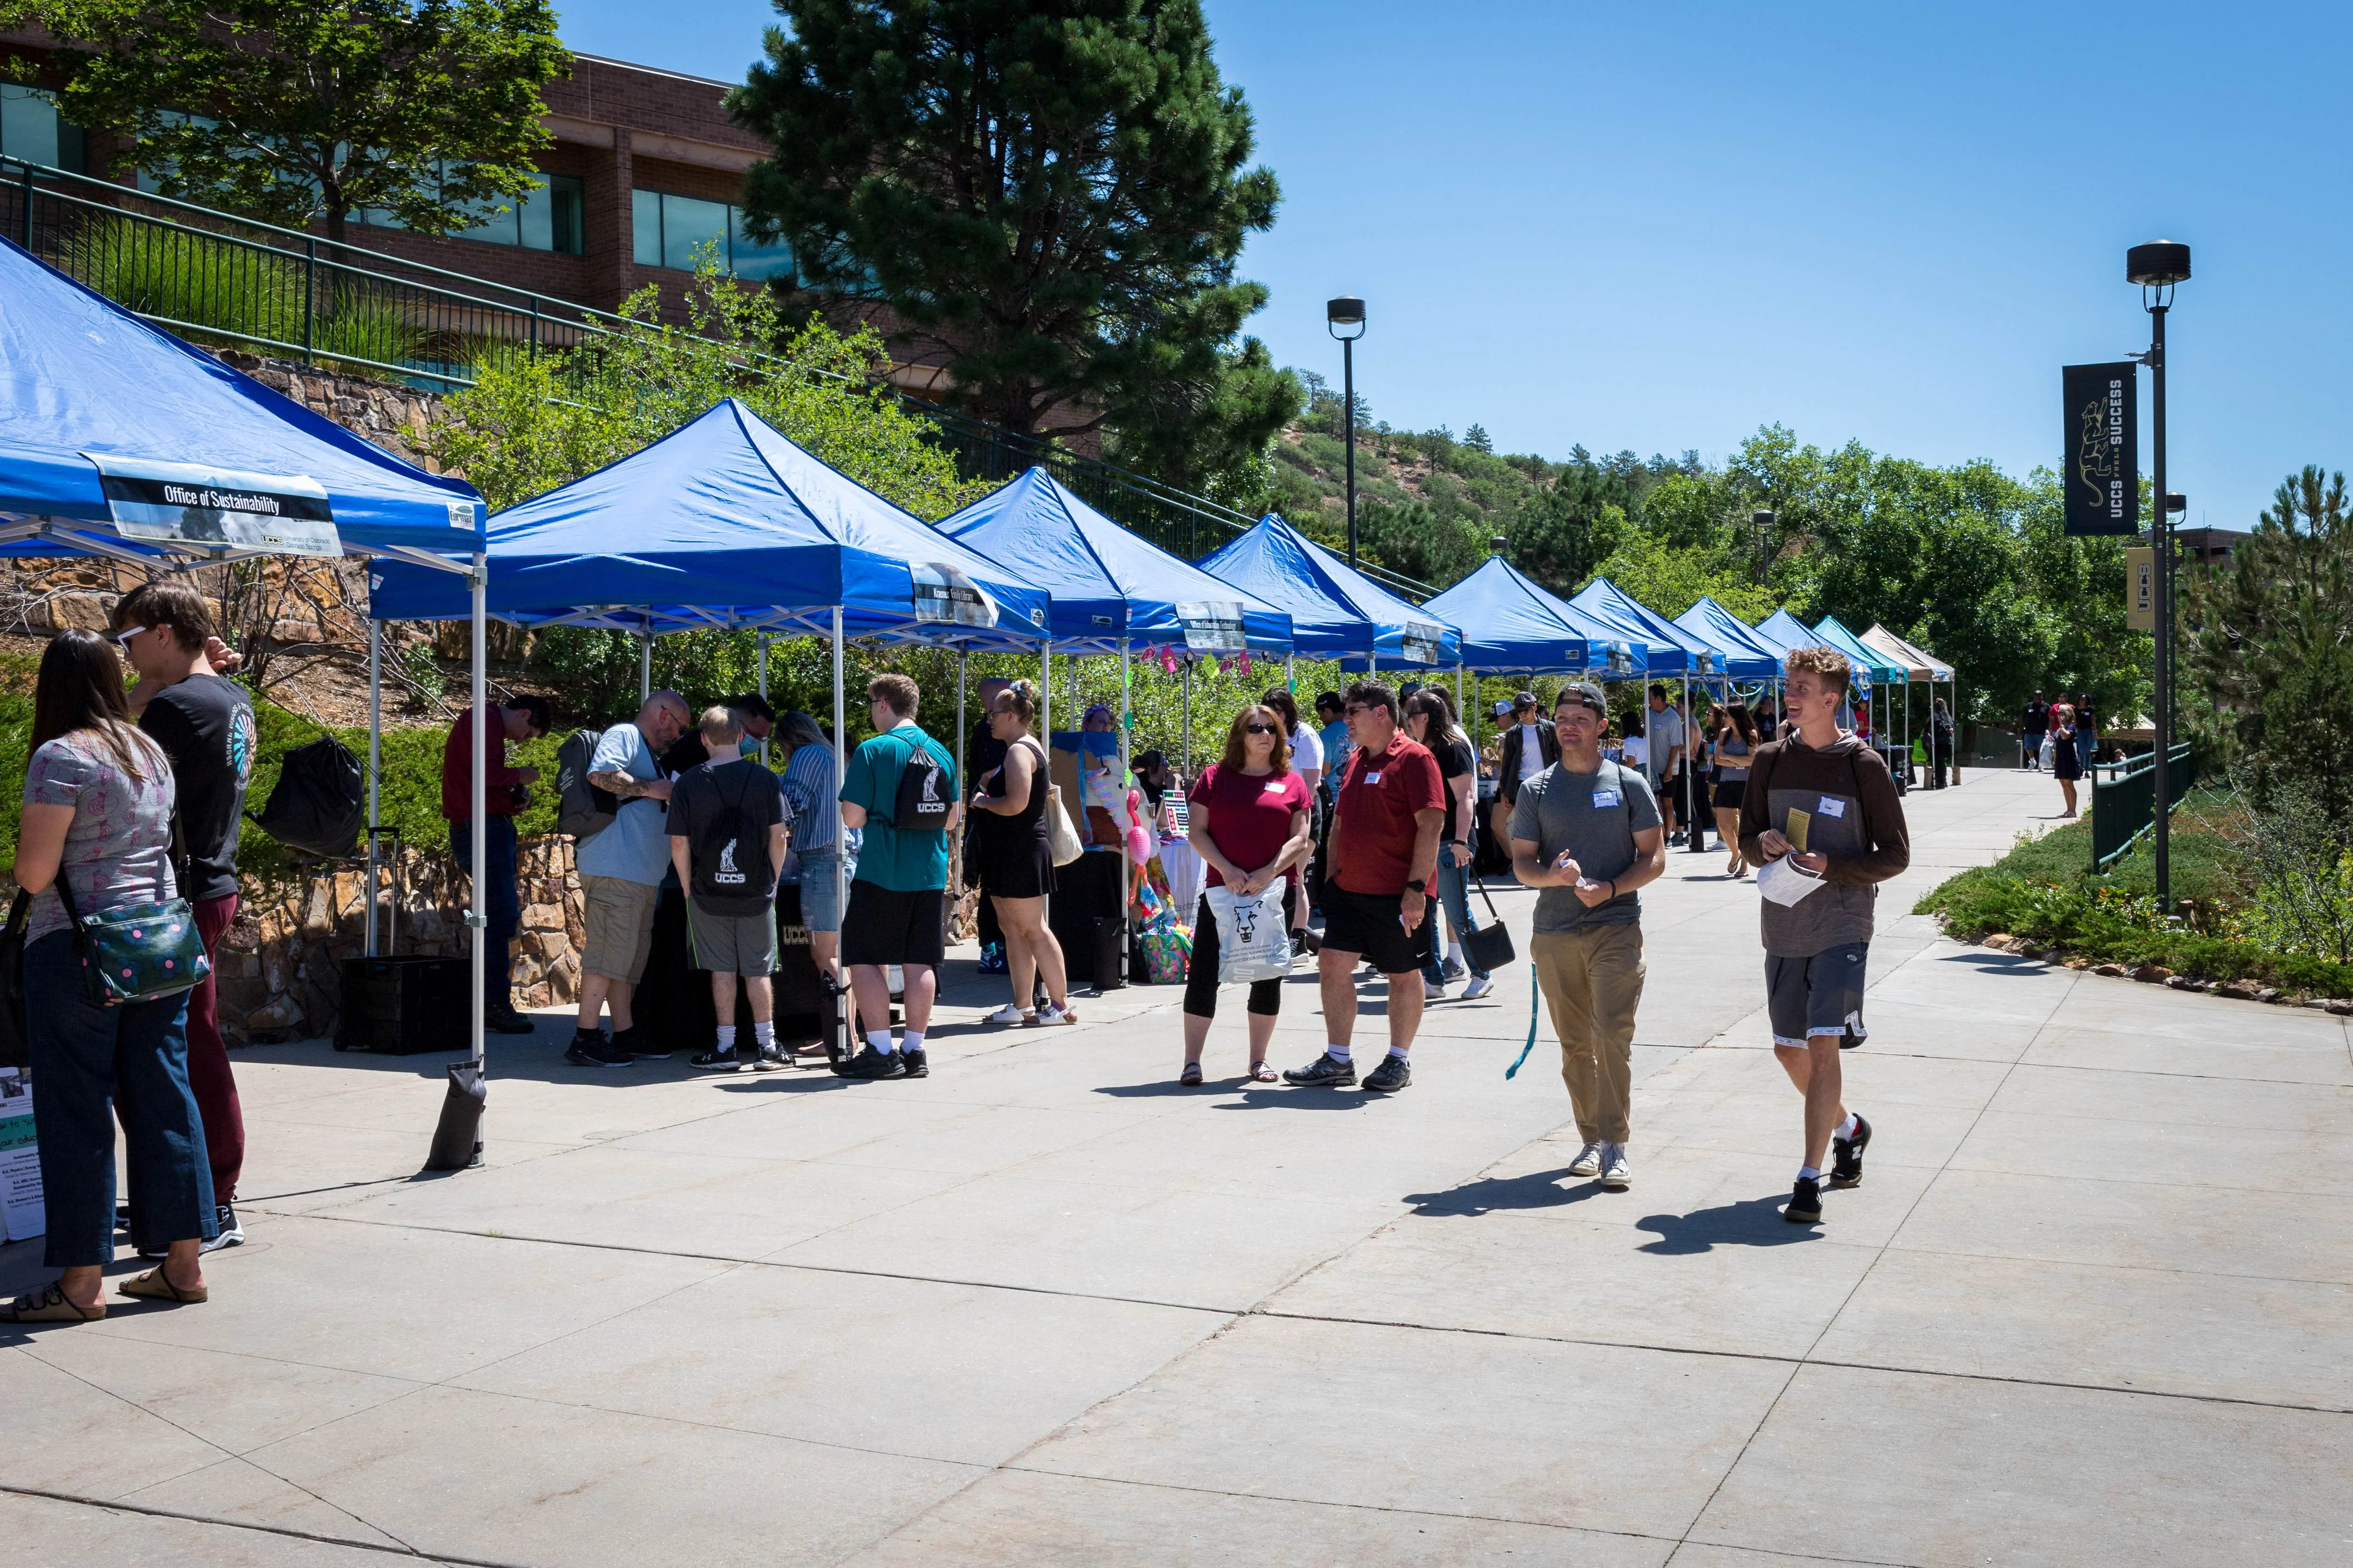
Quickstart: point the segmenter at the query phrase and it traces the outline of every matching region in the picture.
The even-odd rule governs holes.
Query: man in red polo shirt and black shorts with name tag
[[[1355,1084],[1355,966],[1372,959],[1388,976],[1388,1058],[1365,1088],[1388,1093],[1414,1081],[1407,1053],[1421,1027],[1421,966],[1431,961],[1431,877],[1445,830],[1438,757],[1398,729],[1398,693],[1381,682],[1348,686],[1348,766],[1332,820],[1325,875],[1325,938],[1318,959],[1325,1034],[1332,1044],[1282,1074],[1304,1088]]]

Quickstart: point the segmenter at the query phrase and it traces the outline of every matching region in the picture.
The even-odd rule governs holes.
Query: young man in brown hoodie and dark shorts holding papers
[[[1741,856],[1760,872],[1788,858],[1781,903],[1758,877],[1765,926],[1765,1004],[1772,1051],[1805,1095],[1805,1164],[1781,1218],[1821,1220],[1821,1161],[1835,1152],[1833,1187],[1864,1180],[1871,1124],[1840,1098],[1838,1051],[1864,1041],[1864,961],[1871,952],[1878,884],[1911,865],[1904,799],[1887,762],[1838,729],[1847,701],[1847,656],[1798,649],[1788,656],[1788,719],[1798,733],[1760,745],[1741,795]]]

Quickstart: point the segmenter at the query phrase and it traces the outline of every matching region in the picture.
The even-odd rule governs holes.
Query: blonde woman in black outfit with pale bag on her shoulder
[[[981,788],[972,795],[972,832],[981,889],[995,905],[998,929],[1005,933],[1005,973],[1014,983],[1014,999],[988,1013],[984,1023],[1054,1025],[1075,1023],[1071,1013],[1071,980],[1061,961],[1061,943],[1045,924],[1045,900],[1054,891],[1054,851],[1047,849],[1045,806],[1047,773],[1045,748],[1031,733],[1038,722],[1038,682],[998,682],[988,701],[988,724],[995,729],[998,764],[981,776]],[[1026,1006],[1035,999],[1038,978],[1045,976],[1047,1004]]]

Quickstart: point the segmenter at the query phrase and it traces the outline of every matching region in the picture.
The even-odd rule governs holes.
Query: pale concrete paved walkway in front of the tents
[[[416,1060],[240,1053],[214,1300],[0,1338],[26,1561],[2346,1563],[2353,1041],[1904,914],[2052,811],[1911,797],[1849,1100],[1784,1225],[1753,884],[1649,905],[1635,1187],[1565,1175],[1527,971],[1393,1098],[1172,1084],[1176,994],[934,1077],[584,1074],[496,1041],[492,1168]],[[1532,896],[1499,891],[1522,931]],[[1522,940],[1525,947],[1525,940]],[[1367,987],[1379,997],[1379,987]],[[1278,1060],[1320,1048],[1313,980]],[[1379,1027],[1379,1018],[1367,1020]],[[0,1288],[42,1272],[0,1251]],[[127,1265],[125,1265],[127,1267]]]

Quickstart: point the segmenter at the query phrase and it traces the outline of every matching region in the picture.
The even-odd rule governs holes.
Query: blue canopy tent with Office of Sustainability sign
[[[153,574],[266,555],[419,562],[449,583],[459,616],[473,621],[473,849],[480,856],[482,496],[464,480],[426,473],[360,440],[5,240],[0,301],[7,301],[0,308],[0,552],[96,555]],[[372,639],[369,686],[381,672],[374,654]],[[376,750],[369,743],[372,764]],[[475,929],[482,912],[475,884]],[[369,875],[367,952],[374,950]],[[471,1044],[480,1072],[480,943],[473,943],[473,964]]]

